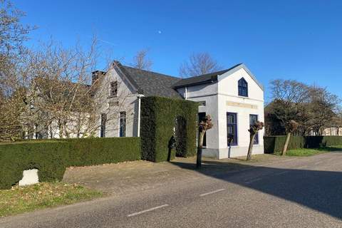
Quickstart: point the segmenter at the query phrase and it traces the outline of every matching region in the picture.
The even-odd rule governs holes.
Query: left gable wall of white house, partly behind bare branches
[[[98,104],[97,137],[136,137],[138,135],[138,93],[127,78],[110,68],[95,95]]]

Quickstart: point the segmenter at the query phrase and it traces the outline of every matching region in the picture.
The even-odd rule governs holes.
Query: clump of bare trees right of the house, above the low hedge
[[[298,124],[294,133],[301,135],[322,135],[338,125],[341,98],[326,88],[296,81],[273,81],[271,88],[274,100],[265,108],[266,133],[287,135],[290,120]]]

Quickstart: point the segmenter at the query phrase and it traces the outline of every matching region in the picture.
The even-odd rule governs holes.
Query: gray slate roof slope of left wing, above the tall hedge
[[[172,88],[172,85],[177,83],[177,81],[180,81],[180,78],[152,71],[144,71],[130,66],[123,66],[118,61],[115,63],[131,83],[133,83],[133,86],[138,89],[138,93],[142,93],[145,96],[182,98],[182,96]]]

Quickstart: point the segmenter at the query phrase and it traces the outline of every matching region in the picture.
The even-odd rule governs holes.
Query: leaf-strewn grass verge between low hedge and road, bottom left
[[[45,207],[73,204],[101,195],[101,192],[63,182],[41,182],[26,187],[16,186],[11,190],[0,190],[0,217]]]

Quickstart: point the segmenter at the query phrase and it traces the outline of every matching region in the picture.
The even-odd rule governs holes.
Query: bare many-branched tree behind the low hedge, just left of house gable
[[[41,46],[40,51],[31,53],[20,75],[29,79],[26,96],[31,101],[23,122],[29,123],[28,119],[33,117],[39,128],[36,130],[51,138],[56,134],[58,138],[86,135],[87,130],[80,132],[78,127],[86,128],[91,120],[93,87],[87,85],[90,85],[95,58],[95,39],[88,51],[78,45],[63,48],[51,41]]]

